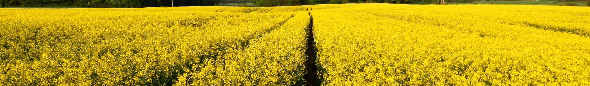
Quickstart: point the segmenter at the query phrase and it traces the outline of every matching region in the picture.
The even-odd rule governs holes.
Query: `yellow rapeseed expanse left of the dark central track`
[[[2,8],[0,83],[301,84],[308,12],[227,8]]]

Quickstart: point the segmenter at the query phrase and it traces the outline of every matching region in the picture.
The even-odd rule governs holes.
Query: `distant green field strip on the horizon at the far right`
[[[493,1],[495,5],[563,5],[568,2],[555,2],[555,1]],[[486,2],[473,2],[473,3],[458,3],[458,4],[490,4]],[[569,2],[577,3],[579,6],[586,6],[586,1]],[[449,3],[456,4],[456,3]]]

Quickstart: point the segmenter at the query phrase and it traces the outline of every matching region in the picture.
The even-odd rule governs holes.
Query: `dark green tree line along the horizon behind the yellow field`
[[[255,6],[292,6],[347,3],[414,4],[420,0],[173,0],[174,6],[213,6],[252,2]],[[172,6],[172,0],[0,0],[0,7],[88,6],[100,8],[142,8]]]

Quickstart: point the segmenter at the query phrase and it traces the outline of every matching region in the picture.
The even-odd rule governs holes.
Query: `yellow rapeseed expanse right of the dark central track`
[[[311,11],[322,85],[590,85],[588,14],[523,5]]]

